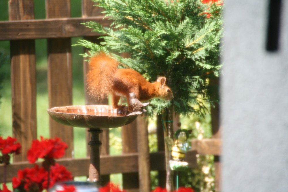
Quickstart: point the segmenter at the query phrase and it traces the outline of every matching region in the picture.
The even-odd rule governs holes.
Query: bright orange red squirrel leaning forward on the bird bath
[[[118,61],[100,52],[90,58],[87,73],[87,88],[89,93],[98,100],[112,94],[112,106],[119,108],[120,96],[126,97],[128,111],[133,111],[129,102],[129,93],[134,93],[139,101],[151,98],[162,100],[173,99],[173,93],[165,85],[166,78],[159,77],[156,82],[146,81],[140,73],[132,69],[118,69]]]

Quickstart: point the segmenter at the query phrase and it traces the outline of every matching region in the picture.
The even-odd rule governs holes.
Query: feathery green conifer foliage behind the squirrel
[[[158,114],[173,105],[178,114],[199,114],[208,96],[209,78],[219,75],[219,43],[222,36],[222,5],[200,0],[94,0],[113,20],[105,28],[86,25],[102,33],[98,45],[86,40],[80,45],[94,52],[128,52],[130,58],[114,55],[120,67],[130,67],[148,81],[165,76],[172,101],[151,100]],[[209,12],[209,13],[208,13]],[[84,56],[90,56],[85,54]]]

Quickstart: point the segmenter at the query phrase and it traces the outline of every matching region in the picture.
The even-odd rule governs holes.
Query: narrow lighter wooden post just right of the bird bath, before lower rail
[[[137,117],[137,139],[138,139],[138,165],[139,165],[139,191],[151,191],[150,184],[150,156],[147,118]]]

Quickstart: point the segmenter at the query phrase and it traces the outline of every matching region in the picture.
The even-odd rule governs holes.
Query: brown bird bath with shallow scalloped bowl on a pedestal
[[[100,176],[100,153],[102,145],[99,134],[101,128],[117,128],[132,123],[141,112],[128,112],[127,107],[113,109],[109,105],[75,105],[66,107],[53,107],[47,110],[49,115],[63,125],[72,127],[89,128],[91,147],[89,178],[90,182],[101,183]]]

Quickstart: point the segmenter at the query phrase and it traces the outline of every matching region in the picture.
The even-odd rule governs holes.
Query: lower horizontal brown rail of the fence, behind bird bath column
[[[195,168],[196,163],[196,151],[188,151],[186,154],[187,161],[190,167]],[[164,152],[150,153],[150,169],[151,170],[165,170]],[[59,164],[65,166],[67,170],[71,172],[73,176],[87,175],[89,171],[90,158],[79,159],[58,159]],[[37,162],[40,166],[41,162]],[[102,174],[113,173],[130,173],[138,171],[138,153],[122,154],[117,156],[101,156],[100,166]],[[12,177],[17,176],[17,172],[20,169],[31,168],[33,164],[28,161],[16,162],[7,166],[7,182],[12,180]],[[0,180],[3,180],[3,165],[0,165]]]

